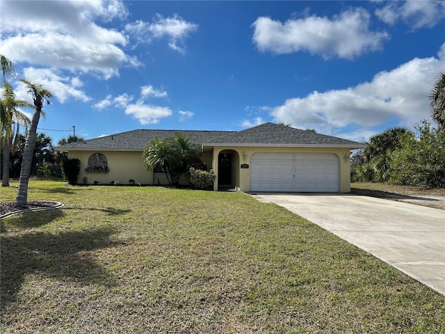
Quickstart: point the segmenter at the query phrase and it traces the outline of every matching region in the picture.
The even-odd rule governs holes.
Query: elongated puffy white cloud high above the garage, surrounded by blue
[[[354,58],[381,49],[385,32],[369,30],[370,15],[362,8],[346,10],[332,19],[312,15],[289,19],[284,24],[270,17],[258,17],[252,24],[252,40],[259,51],[291,54],[308,51],[323,58]]]

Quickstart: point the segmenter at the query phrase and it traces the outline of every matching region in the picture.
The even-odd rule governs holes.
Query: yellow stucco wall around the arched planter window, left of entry
[[[86,172],[88,159],[95,153],[105,155],[108,161],[108,173]],[[109,184],[111,181],[128,184],[130,179],[140,184],[153,184],[153,171],[147,170],[142,152],[70,151],[68,157],[81,161],[81,172],[77,179],[79,184],[83,183],[83,177],[88,177],[87,184],[94,184],[95,181],[101,184]]]

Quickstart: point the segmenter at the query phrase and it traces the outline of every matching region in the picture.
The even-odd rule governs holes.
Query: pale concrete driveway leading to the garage
[[[352,194],[257,193],[445,295],[445,211]]]

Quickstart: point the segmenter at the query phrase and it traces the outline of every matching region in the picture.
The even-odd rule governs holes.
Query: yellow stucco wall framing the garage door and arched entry
[[[250,157],[254,153],[334,153],[337,154],[340,161],[340,192],[350,193],[350,149],[348,148],[233,148],[221,147],[213,150],[213,168],[215,174],[218,175],[218,154],[223,150],[233,150],[238,152],[239,163],[234,164],[234,177],[238,180],[236,189],[239,191],[250,191],[250,168],[241,168],[241,164],[250,165]],[[247,154],[245,156],[245,154]],[[245,158],[244,158],[245,157]],[[236,161],[234,161],[236,162]],[[218,176],[213,184],[213,190],[218,190]]]

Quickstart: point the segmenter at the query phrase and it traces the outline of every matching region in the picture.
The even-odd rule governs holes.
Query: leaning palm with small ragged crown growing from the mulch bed
[[[26,136],[22,169],[20,170],[19,190],[17,191],[17,197],[15,198],[15,202],[17,202],[17,204],[26,204],[28,201],[29,175],[31,174],[31,162],[33,160],[37,125],[40,120],[40,115],[44,115],[44,101],[49,104],[48,98],[52,97],[53,95],[49,90],[44,89],[41,84],[33,84],[27,79],[20,79],[20,81],[22,81],[26,87],[29,88],[28,93],[31,93],[35,106],[35,112],[33,114],[33,118],[31,119],[31,126],[29,128],[28,136]]]

